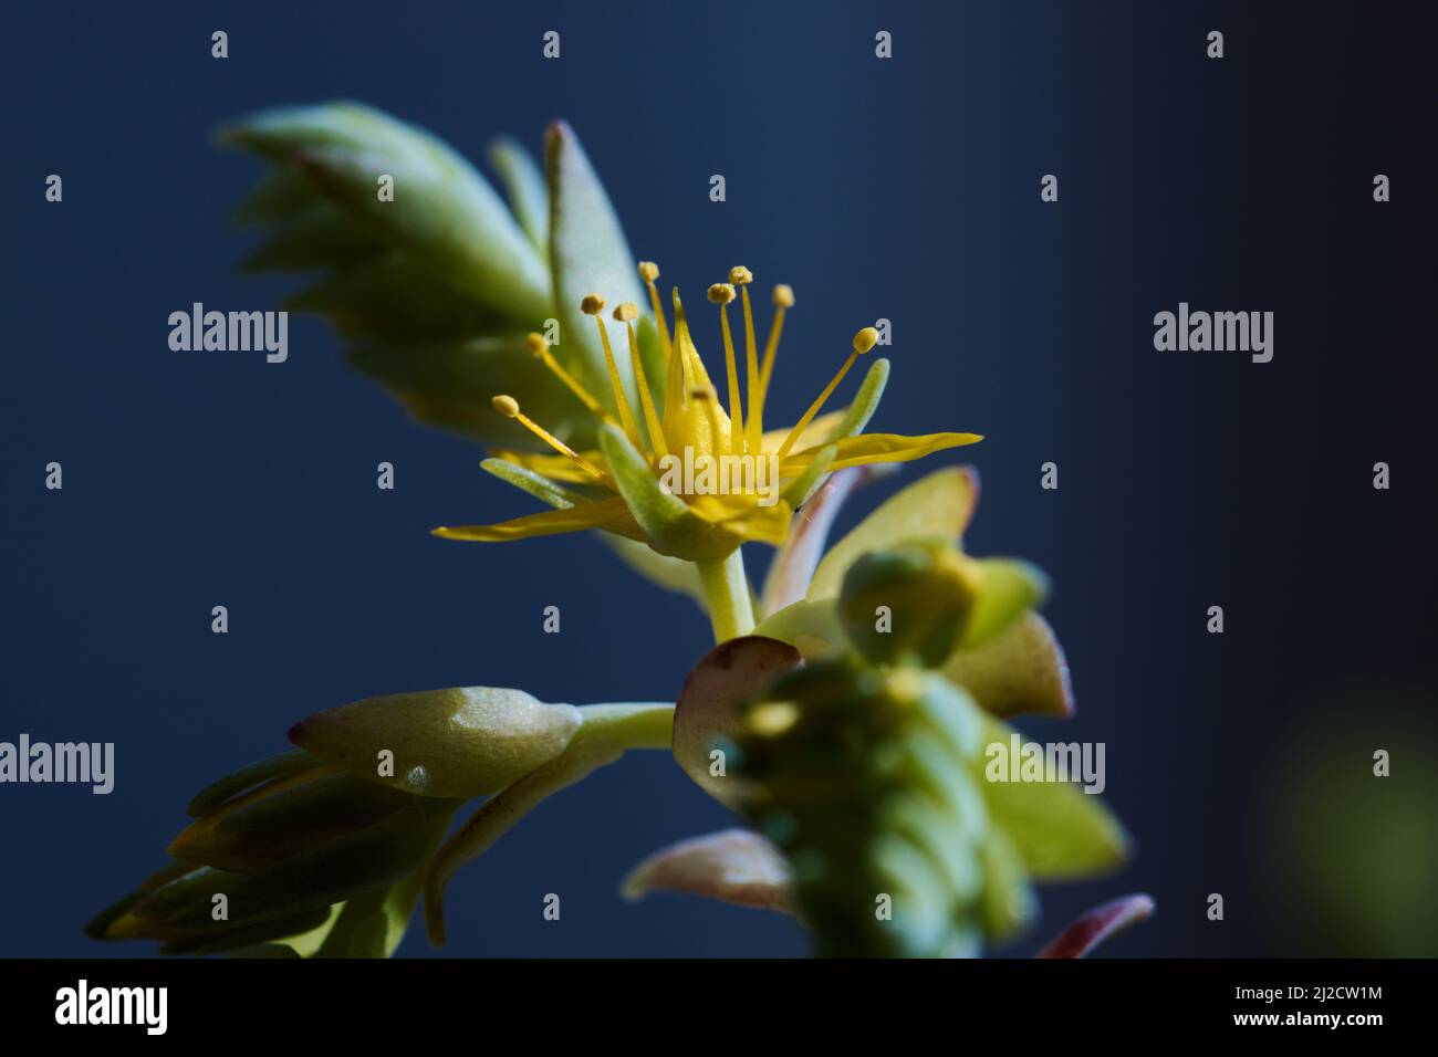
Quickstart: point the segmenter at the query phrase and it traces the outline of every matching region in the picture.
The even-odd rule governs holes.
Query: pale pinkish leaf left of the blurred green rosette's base
[[[720,830],[660,848],[624,879],[626,899],[683,892],[722,903],[794,913],[789,866],[774,844],[749,830]]]

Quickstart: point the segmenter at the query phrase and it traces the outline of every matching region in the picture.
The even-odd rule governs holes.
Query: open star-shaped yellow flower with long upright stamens
[[[774,360],[784,329],[784,315],[794,305],[788,286],[774,288],[774,321],[759,352],[748,286],[754,275],[746,267],[729,270],[729,282],[709,288],[709,301],[719,306],[723,335],[728,407],[719,400],[709,372],[695,348],[679,290],[673,293],[674,328],[669,329],[654,280],[659,267],[643,262],[640,278],[649,286],[654,319],[664,349],[666,377],[661,388],[650,390],[644,375],[634,319],[638,309],[623,303],[614,319],[628,331],[628,358],[638,406],[626,395],[614,349],[600,314],[604,298],[590,295],[581,305],[595,316],[613,403],[604,404],[549,352],[542,337],[531,334],[529,348],[600,420],[598,450],[575,452],[523,413],[508,395],[496,395],[495,408],[522,424],[554,454],[496,453],[486,469],[557,508],[499,525],[437,528],[446,539],[498,542],[526,536],[604,529],[647,544],[654,551],[689,561],[715,561],[742,542],[754,539],[779,545],[788,532],[794,508],[812,493],[827,473],[879,462],[909,462],[946,447],[972,444],[972,433],[899,436],[861,434],[873,413],[887,361],[879,361],[866,381],[861,400],[846,413],[820,416],[850,368],[879,341],[866,326],[854,335],[853,349],[833,381],[810,408],[787,430],[766,433],[764,406],[769,393]],[[728,305],[739,296],[743,306],[743,372],[748,408],[741,404],[741,365],[729,328]],[[661,397],[661,407],[656,406]],[[614,413],[610,411],[614,408]]]

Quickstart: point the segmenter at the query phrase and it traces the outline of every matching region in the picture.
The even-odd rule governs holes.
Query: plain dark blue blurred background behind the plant
[[[709,644],[687,600],[592,539],[430,538],[533,505],[345,370],[321,324],[290,319],[283,365],[168,349],[174,309],[273,308],[292,289],[236,276],[246,240],[226,216],[259,167],[209,129],[341,96],[473,158],[498,132],[538,148],[568,118],[666,279],[697,292],[745,263],[794,285],[777,420],[886,316],[876,427],[988,436],[963,453],[984,476],[969,546],[1053,574],[1078,693],[1074,720],[1028,729],[1107,743],[1107,800],[1139,841],[1116,877],[1045,887],[1015,952],[1127,890],[1159,916],[1113,953],[1333,952],[1294,919],[1301,892],[1273,883],[1284,853],[1261,818],[1324,709],[1357,725],[1357,772],[1391,746],[1393,782],[1432,774],[1398,733],[1431,732],[1438,682],[1419,6],[200,7],[4,16],[0,739],[114,741],[118,784],[0,788],[0,953],[144,952],[81,925],[160,861],[194,790],[283,748],[309,712],[472,683],[672,697]],[[541,59],[549,29],[559,62]],[[1204,58],[1209,29],[1222,62]],[[43,201],[49,173],[63,204]],[[1040,203],[1045,173],[1057,206]],[[1391,204],[1372,201],[1375,173]],[[1156,352],[1152,316],[1179,301],[1274,311],[1274,361]],[[1370,488],[1379,459],[1391,492]],[[45,490],[50,460],[63,492]],[[374,486],[380,460],[394,492]],[[1058,492],[1038,488],[1045,460]],[[210,633],[216,604],[227,636]],[[549,604],[561,636],[541,633]],[[1388,712],[1369,709],[1375,687]],[[1300,785],[1330,779],[1301,765]],[[664,755],[631,755],[456,882],[446,952],[802,952],[778,916],[617,899],[646,853],[725,824]],[[561,923],[541,919],[546,892]],[[1224,923],[1204,916],[1211,892]],[[403,951],[427,951],[418,930]]]

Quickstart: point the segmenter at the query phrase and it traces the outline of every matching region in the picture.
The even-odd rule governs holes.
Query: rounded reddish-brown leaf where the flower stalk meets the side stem
[[[778,639],[743,636],[712,649],[689,673],[674,705],[674,759],[715,800],[733,804],[739,795],[738,778],[710,772],[710,754],[728,751],[738,733],[739,706],[802,660]]]

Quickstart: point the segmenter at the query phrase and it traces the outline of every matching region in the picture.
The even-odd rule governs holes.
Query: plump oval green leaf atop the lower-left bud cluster
[[[480,797],[558,756],[581,723],[572,705],[472,686],[367,697],[290,728],[292,742],[371,782],[424,797]],[[378,774],[380,752],[394,774]]]

